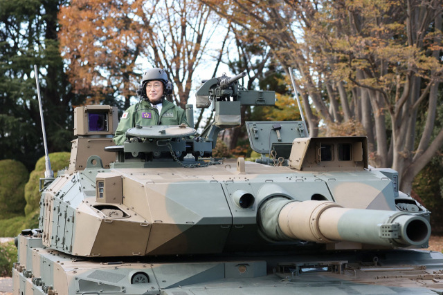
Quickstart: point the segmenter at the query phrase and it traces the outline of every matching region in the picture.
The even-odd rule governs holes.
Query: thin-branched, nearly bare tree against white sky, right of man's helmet
[[[177,91],[173,97],[185,108],[196,68],[217,34],[219,18],[195,0],[170,0],[152,14],[155,37],[147,38],[147,60],[169,70]]]

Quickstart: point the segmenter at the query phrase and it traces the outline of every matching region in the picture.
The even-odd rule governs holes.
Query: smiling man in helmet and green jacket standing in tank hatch
[[[180,125],[186,124],[186,113],[179,106],[165,99],[165,95],[172,93],[172,83],[168,75],[161,68],[151,68],[142,77],[138,86],[137,95],[140,102],[129,106],[118,123],[114,142],[123,144],[126,140],[126,131],[129,128],[153,125]]]

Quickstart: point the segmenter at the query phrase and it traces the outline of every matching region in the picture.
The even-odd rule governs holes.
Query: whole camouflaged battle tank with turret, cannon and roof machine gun
[[[39,229],[17,237],[14,294],[442,294],[430,212],[368,164],[366,137],[309,137],[303,121],[245,122],[255,162],[212,153],[241,106],[272,91],[208,79],[215,120],[136,126],[75,108],[69,168],[41,180]]]

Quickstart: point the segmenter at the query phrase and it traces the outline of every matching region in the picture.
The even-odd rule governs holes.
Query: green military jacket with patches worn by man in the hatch
[[[118,123],[116,134],[114,135],[114,142],[117,145],[123,144],[126,140],[126,131],[129,128],[140,126],[153,126],[153,125],[180,125],[186,124],[186,113],[183,108],[176,106],[172,102],[163,99],[163,107],[161,113],[159,110],[153,108],[150,102],[143,100],[138,106],[137,112],[135,112],[137,104],[129,106],[129,108],[123,113]]]

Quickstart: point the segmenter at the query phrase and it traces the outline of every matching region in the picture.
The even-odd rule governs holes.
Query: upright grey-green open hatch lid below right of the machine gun
[[[302,121],[246,122],[249,143],[253,151],[262,155],[276,152],[276,158],[288,159],[292,142],[305,137]]]

